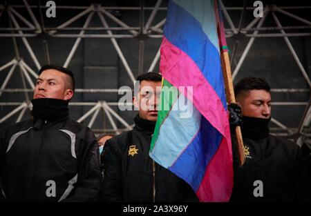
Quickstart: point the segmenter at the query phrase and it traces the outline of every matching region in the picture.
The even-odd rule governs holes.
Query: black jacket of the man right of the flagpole
[[[299,197],[299,146],[288,139],[269,135],[263,139],[243,137],[246,160],[238,166],[234,161],[234,188],[231,202],[292,202]],[[235,144],[235,141],[233,141]],[[236,148],[234,148],[236,150]],[[236,152],[236,151],[235,151]],[[263,182],[263,197],[254,190]],[[255,190],[255,192],[258,190]]]

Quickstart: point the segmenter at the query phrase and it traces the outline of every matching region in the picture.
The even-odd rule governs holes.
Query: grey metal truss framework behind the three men
[[[11,61],[8,63],[5,63],[3,66],[0,66],[0,72],[6,72],[8,70],[8,74],[6,75],[6,79],[4,79],[3,84],[1,85],[0,90],[0,97],[3,92],[32,92],[32,90],[35,87],[34,80],[37,79],[37,71],[41,64],[39,63],[37,59],[37,55],[42,55],[42,53],[34,53],[32,50],[32,47],[30,43],[28,42],[28,38],[30,37],[38,37],[42,32],[48,34],[50,37],[57,37],[57,38],[72,38],[74,40],[73,47],[68,52],[68,57],[64,61],[64,67],[67,67],[70,65],[70,61],[73,59],[75,51],[77,50],[77,47],[79,46],[79,43],[84,38],[108,38],[111,40],[111,43],[113,44],[113,47],[115,48],[115,52],[117,52],[118,57],[120,58],[120,61],[122,62],[122,65],[124,66],[126,73],[129,77],[129,80],[132,82],[135,81],[133,70],[130,68],[128,61],[126,61],[126,58],[124,57],[124,54],[117,43],[116,39],[128,39],[128,38],[136,38],[140,41],[139,45],[139,67],[138,67],[138,73],[142,73],[143,71],[143,63],[144,63],[144,43],[147,39],[162,39],[162,33],[163,33],[163,26],[165,23],[165,17],[162,17],[162,20],[158,23],[154,23],[154,19],[156,17],[156,14],[158,11],[167,10],[167,8],[160,7],[162,0],[157,0],[155,5],[153,7],[144,7],[144,1],[141,2],[140,7],[107,7],[102,6],[100,4],[91,4],[89,6],[57,6],[57,10],[73,10],[76,11],[76,15],[74,17],[71,17],[68,19],[68,21],[65,21],[59,26],[52,26],[52,27],[46,27],[44,26],[44,21],[42,18],[42,14],[46,10],[46,6],[30,6],[28,4],[27,0],[22,1],[23,4],[21,5],[0,5],[0,19],[1,17],[7,15],[10,21],[10,27],[1,27],[0,28],[0,38],[3,37],[12,37],[12,41],[15,45],[15,57],[12,58]],[[299,59],[298,55],[296,54],[296,51],[294,49],[294,46],[292,46],[292,43],[290,42],[290,37],[310,37],[311,36],[311,21],[307,19],[303,19],[302,17],[299,17],[297,14],[293,14],[290,12],[290,10],[295,9],[304,9],[304,10],[311,10],[310,6],[291,6],[291,7],[279,7],[276,5],[268,5],[265,6],[265,10],[263,12],[262,18],[254,18],[250,23],[248,23],[245,27],[243,27],[243,19],[245,17],[245,14],[247,12],[252,12],[254,8],[252,7],[246,7],[245,5],[243,7],[225,7],[223,3],[220,1],[220,6],[223,10],[223,14],[225,17],[225,26],[229,26],[229,28],[225,29],[226,37],[233,37],[234,35],[243,35],[245,38],[249,38],[249,41],[247,43],[247,46],[245,47],[243,54],[241,55],[240,59],[238,59],[235,68],[232,73],[233,79],[238,75],[239,70],[241,69],[241,66],[243,65],[243,62],[245,60],[245,57],[247,57],[250,48],[252,48],[252,45],[256,38],[258,37],[278,37],[280,39],[285,40],[285,43],[288,46],[288,49],[290,50],[293,60],[296,62],[297,67],[299,68],[299,71],[301,72],[301,76],[304,77],[305,82],[308,84],[309,88],[283,88],[283,89],[272,89],[272,92],[309,92],[311,88],[311,81],[310,77],[308,77],[308,72],[303,67],[301,60]],[[17,8],[19,10],[26,10],[29,14],[30,20],[26,19],[21,13],[18,12]],[[40,17],[36,17],[33,10],[34,8],[38,9],[40,11]],[[115,13],[122,10],[131,10],[133,12],[136,12],[136,14],[139,12],[139,26],[129,26],[126,24],[126,21],[122,21],[121,19],[117,18],[115,16]],[[151,12],[150,16],[148,17],[147,21],[144,23],[144,11]],[[229,12],[230,11],[239,11],[241,12],[241,19],[238,24],[234,24],[232,21]],[[265,22],[265,18],[268,14],[272,14],[272,17],[275,21],[276,26],[274,27],[262,27],[263,23]],[[282,26],[281,21],[279,19],[279,14],[283,14],[288,19],[295,19],[296,21],[299,21],[301,23],[300,26]],[[98,27],[89,27],[89,24],[91,23],[91,20],[94,16],[98,16],[102,26]],[[72,23],[75,23],[78,20],[84,20],[84,24],[81,27],[70,27]],[[109,19],[109,21],[113,21],[117,25],[117,27],[111,27],[109,26],[106,19]],[[22,23],[22,24],[21,24]],[[21,27],[26,26],[26,27]],[[237,27],[236,27],[237,26]],[[98,33],[94,34],[93,32],[96,31],[106,31],[105,34]],[[275,31],[279,31],[279,33],[275,33]],[[298,30],[298,32],[285,32],[288,30]],[[301,32],[299,30],[309,30],[309,32]],[[71,31],[79,31],[77,34],[68,33]],[[126,34],[119,32],[127,32]],[[265,31],[265,33],[260,33],[262,31]],[[271,31],[271,33],[266,32]],[[92,32],[92,33],[90,33]],[[252,32],[252,33],[249,33]],[[30,55],[33,63],[35,64],[36,68],[30,68],[30,63],[26,63],[22,57],[19,55],[19,48],[17,47],[17,39],[21,39],[23,42],[23,45],[26,47],[28,54]],[[233,48],[233,52],[231,55],[231,60],[235,61],[235,48]],[[46,53],[46,56],[48,56],[48,52]],[[48,58],[48,57],[47,57]],[[156,67],[156,64],[158,63],[160,59],[160,48],[156,52],[156,56],[153,58],[153,61],[149,67],[148,71],[153,71]],[[6,88],[8,82],[10,81],[10,78],[12,77],[12,74],[14,72],[19,71],[21,72],[21,79],[23,81],[23,88]],[[28,86],[30,87],[27,87]],[[77,89],[76,92],[117,92],[118,89]],[[0,116],[0,124],[3,123],[3,121],[8,121],[8,119],[11,119],[11,121],[21,121],[23,118],[24,113],[26,110],[31,109],[31,103],[30,99],[28,99],[28,95],[26,95],[25,101],[21,102],[1,102],[0,106],[17,106],[14,108],[11,112],[9,112],[7,115]],[[0,98],[1,99],[1,98]],[[274,132],[277,135],[285,135],[285,136],[292,136],[294,139],[299,139],[298,141],[305,142],[306,144],[309,144],[311,146],[311,130],[310,130],[310,122],[311,122],[311,107],[310,107],[311,101],[300,101],[300,102],[273,102],[272,106],[304,106],[305,112],[303,114],[303,117],[300,121],[298,128],[288,128],[284,124],[282,124],[280,121],[276,119],[272,119],[272,122],[275,124],[276,128],[272,128],[272,132]],[[130,124],[128,124],[120,115],[115,112],[111,106],[117,106],[118,102],[115,101],[113,103],[108,103],[106,101],[98,101],[97,103],[88,102],[88,101],[79,101],[79,102],[72,102],[70,103],[70,106],[92,106],[90,110],[88,110],[82,117],[77,119],[79,122],[83,122],[84,124],[88,125],[90,128],[92,128],[93,123],[95,119],[98,117],[100,111],[102,110],[102,115],[104,115],[107,119],[109,119],[109,122],[111,123],[112,128],[93,128],[95,132],[115,132],[116,134],[122,132],[123,130],[129,130],[132,128]],[[131,105],[131,104],[129,104]],[[17,116],[17,114],[19,115]],[[16,118],[17,117],[17,118]],[[86,119],[88,117],[91,117],[90,121],[88,123],[86,122]],[[15,120],[14,120],[15,119]],[[122,124],[122,128],[117,128],[116,121],[120,121]],[[303,136],[301,136],[303,135]],[[299,138],[297,138],[299,137]]]

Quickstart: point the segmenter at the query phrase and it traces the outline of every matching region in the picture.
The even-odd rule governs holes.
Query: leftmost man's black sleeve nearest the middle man
[[[100,150],[91,130],[86,136],[87,147],[79,164],[77,184],[64,202],[96,202],[100,198]]]

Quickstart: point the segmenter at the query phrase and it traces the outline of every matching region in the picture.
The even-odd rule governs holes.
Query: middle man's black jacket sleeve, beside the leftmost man
[[[102,200],[104,202],[123,202],[120,146],[115,139],[109,139],[104,152],[104,180]]]

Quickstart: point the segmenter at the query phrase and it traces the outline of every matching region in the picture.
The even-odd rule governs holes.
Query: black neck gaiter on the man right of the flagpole
[[[249,139],[264,139],[269,136],[268,124],[271,118],[255,118],[243,116],[242,136]]]

